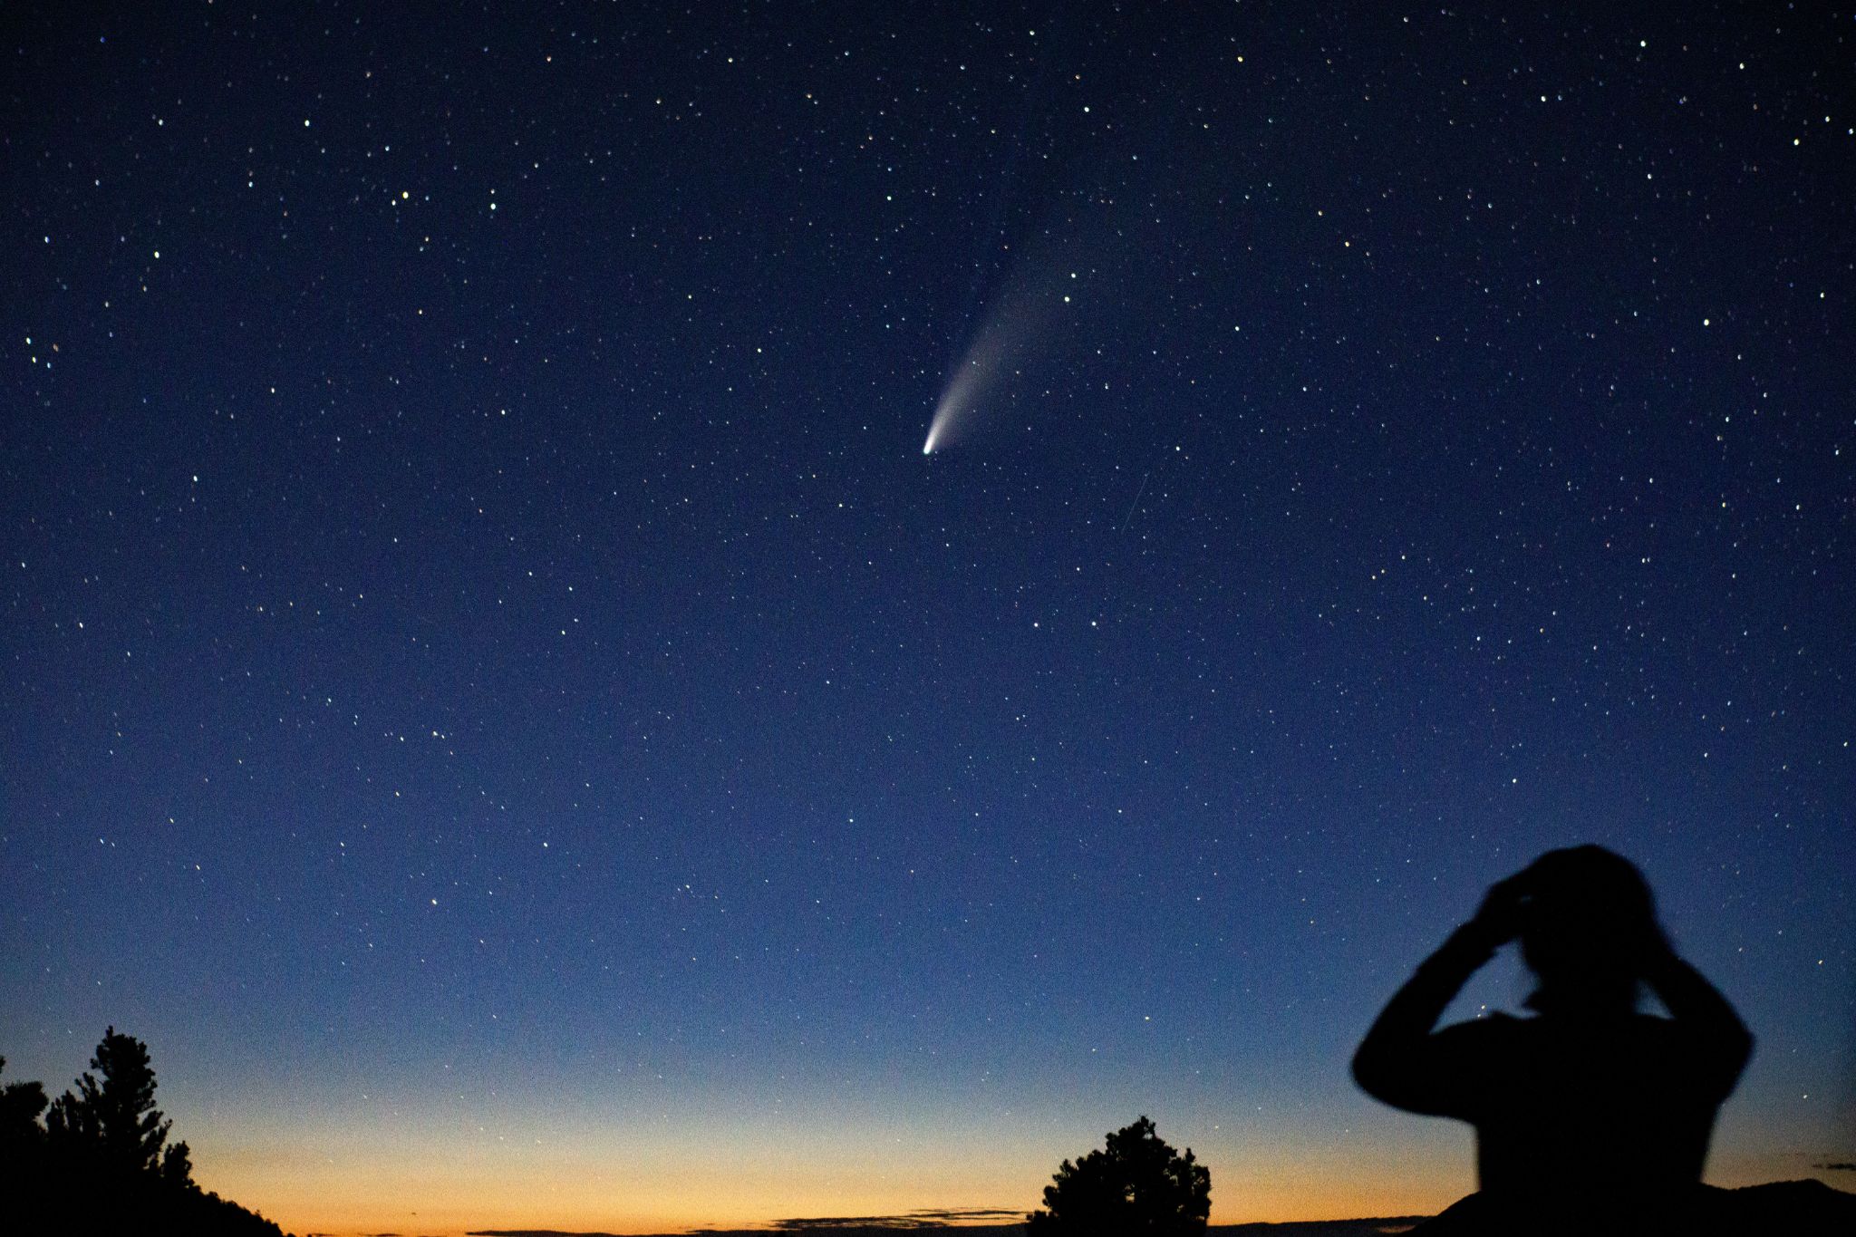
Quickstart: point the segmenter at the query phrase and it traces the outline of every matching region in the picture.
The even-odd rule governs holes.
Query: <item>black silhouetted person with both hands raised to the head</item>
[[[1539,979],[1533,1016],[1437,1029],[1514,938]],[[1669,1018],[1637,1011],[1639,985]],[[1422,1231],[1663,1231],[1702,1211],[1715,1113],[1750,1053],[1734,1007],[1663,937],[1643,874],[1579,846],[1489,890],[1373,1022],[1353,1078],[1394,1107],[1476,1126],[1481,1191]]]

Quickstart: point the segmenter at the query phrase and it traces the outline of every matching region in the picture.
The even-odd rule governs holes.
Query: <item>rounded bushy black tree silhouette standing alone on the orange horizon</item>
[[[1141,1116],[1108,1135],[1108,1148],[1067,1159],[1045,1187],[1045,1211],[1026,1220],[1039,1237],[1203,1233],[1212,1215],[1212,1174],[1177,1154]]]

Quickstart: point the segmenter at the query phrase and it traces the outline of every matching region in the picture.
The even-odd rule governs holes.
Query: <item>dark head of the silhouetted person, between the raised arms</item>
[[[1522,874],[1520,953],[1542,1013],[1628,1013],[1644,946],[1657,938],[1656,898],[1637,866],[1602,846],[1540,855]]]

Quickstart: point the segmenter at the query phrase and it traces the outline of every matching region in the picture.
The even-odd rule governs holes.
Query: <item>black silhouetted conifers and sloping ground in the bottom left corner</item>
[[[91,1070],[50,1105],[41,1083],[0,1089],[0,1231],[282,1237],[193,1183],[187,1144],[167,1141],[154,1107],[147,1044],[110,1027]]]

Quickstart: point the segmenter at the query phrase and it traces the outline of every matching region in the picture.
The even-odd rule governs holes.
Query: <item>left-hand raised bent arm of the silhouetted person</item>
[[[1394,1107],[1448,1113],[1455,1105],[1461,1065],[1433,1040],[1437,1020],[1483,963],[1514,938],[1522,892],[1516,877],[1498,883],[1468,924],[1418,964],[1353,1053],[1353,1081]]]

